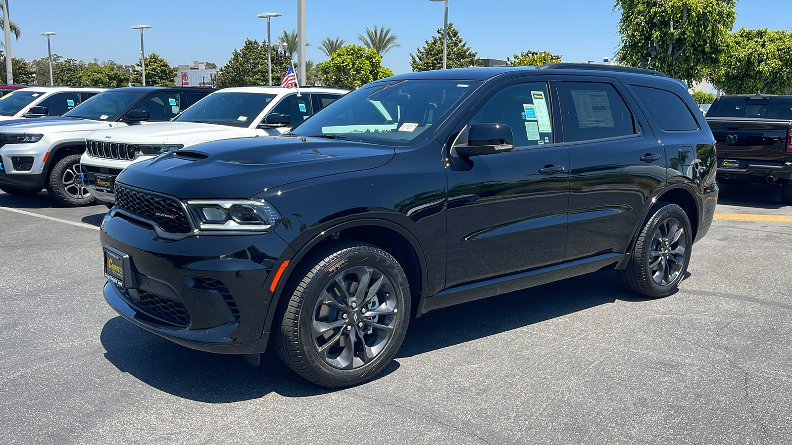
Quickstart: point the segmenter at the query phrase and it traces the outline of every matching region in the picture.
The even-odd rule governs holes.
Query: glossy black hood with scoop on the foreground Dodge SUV
[[[203,143],[130,165],[118,182],[181,199],[249,198],[315,177],[374,169],[392,146],[296,136]]]

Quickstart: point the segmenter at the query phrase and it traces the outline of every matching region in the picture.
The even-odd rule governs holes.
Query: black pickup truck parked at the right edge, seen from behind
[[[780,185],[792,205],[792,96],[718,97],[706,121],[718,142],[718,181]]]

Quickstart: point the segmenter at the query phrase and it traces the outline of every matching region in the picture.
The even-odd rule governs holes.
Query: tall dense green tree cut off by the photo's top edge
[[[718,63],[737,0],[616,0],[616,60],[658,70],[692,86]]]

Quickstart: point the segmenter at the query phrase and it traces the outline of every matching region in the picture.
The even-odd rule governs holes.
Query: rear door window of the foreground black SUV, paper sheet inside
[[[635,134],[630,108],[609,83],[564,82],[567,142]]]

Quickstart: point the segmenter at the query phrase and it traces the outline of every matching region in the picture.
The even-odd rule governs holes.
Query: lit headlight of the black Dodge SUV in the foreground
[[[190,200],[200,230],[269,232],[280,222],[275,207],[264,200]]]

